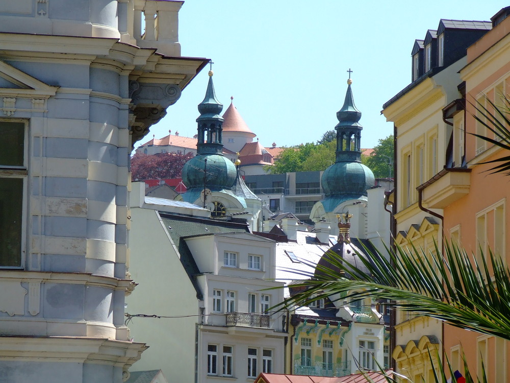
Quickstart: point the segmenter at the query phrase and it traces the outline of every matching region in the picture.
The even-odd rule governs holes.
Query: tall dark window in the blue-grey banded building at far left
[[[22,122],[0,121],[0,267],[20,268],[25,247],[25,185],[27,183],[26,126]]]

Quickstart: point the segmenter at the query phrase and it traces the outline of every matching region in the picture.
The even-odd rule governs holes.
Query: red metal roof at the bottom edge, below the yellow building
[[[393,375],[392,370],[387,370],[388,375]],[[371,379],[369,380],[367,376]],[[309,375],[288,375],[288,374],[265,374],[255,379],[254,383],[387,383],[385,375],[377,371],[366,371],[365,374],[350,374],[340,377],[324,377]]]

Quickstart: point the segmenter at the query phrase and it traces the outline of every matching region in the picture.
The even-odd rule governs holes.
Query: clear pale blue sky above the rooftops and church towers
[[[382,104],[411,82],[415,39],[439,20],[490,20],[504,1],[187,0],[179,14],[182,55],[211,58],[218,100],[234,105],[262,145],[317,141],[337,124],[351,68],[362,112],[362,147],[393,132]],[[138,145],[196,134],[207,68]]]

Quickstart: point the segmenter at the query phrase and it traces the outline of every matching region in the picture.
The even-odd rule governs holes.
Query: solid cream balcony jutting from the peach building
[[[443,169],[418,186],[423,190],[422,203],[427,208],[444,209],[469,193],[471,169]]]

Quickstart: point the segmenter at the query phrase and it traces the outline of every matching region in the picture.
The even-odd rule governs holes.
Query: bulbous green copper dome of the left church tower
[[[207,163],[205,159],[207,158]],[[230,190],[236,182],[236,165],[231,160],[218,154],[197,155],[183,167],[183,183],[189,189],[203,189],[203,173],[206,172],[206,187],[213,192],[221,189]]]

